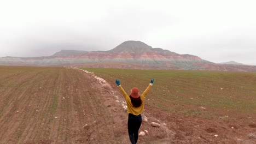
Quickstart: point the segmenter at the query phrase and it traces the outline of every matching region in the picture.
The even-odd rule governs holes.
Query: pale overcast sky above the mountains
[[[0,57],[110,50],[139,40],[256,65],[255,1],[1,1]]]

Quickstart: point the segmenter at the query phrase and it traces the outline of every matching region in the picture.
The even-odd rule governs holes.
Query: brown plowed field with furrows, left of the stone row
[[[82,71],[42,67],[0,67],[0,71],[0,143],[123,141],[113,130],[113,115],[118,113],[112,112],[114,97]]]

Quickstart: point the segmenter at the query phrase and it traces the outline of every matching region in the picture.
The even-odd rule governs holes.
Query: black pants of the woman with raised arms
[[[141,114],[138,116],[129,113],[128,117],[128,133],[132,144],[136,144],[138,140],[138,130],[141,127],[142,118]]]

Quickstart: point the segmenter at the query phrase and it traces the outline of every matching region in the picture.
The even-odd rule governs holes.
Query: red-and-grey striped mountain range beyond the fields
[[[180,55],[132,40],[125,41],[109,51],[61,50],[48,57],[2,57],[0,65],[256,71],[253,66],[216,64],[198,56]]]

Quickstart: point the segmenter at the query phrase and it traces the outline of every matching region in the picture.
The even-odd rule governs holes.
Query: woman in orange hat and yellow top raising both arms
[[[149,89],[153,86],[154,79],[152,79],[149,83],[147,89],[139,95],[139,91],[137,87],[134,87],[130,91],[130,95],[128,96],[127,93],[124,91],[123,87],[120,85],[120,81],[117,79],[115,80],[117,83],[120,91],[124,94],[124,98],[126,99],[127,103],[127,113],[128,116],[128,133],[130,137],[131,143],[137,143],[138,140],[138,130],[141,127],[142,118],[141,113],[144,110],[144,101],[145,96],[148,94]]]

